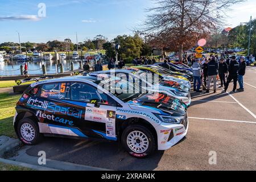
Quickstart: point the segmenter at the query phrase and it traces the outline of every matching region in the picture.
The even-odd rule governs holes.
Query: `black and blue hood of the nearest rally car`
[[[144,110],[151,109],[152,113],[185,115],[187,106],[175,97],[168,96],[164,93],[147,93],[128,102],[131,109]]]

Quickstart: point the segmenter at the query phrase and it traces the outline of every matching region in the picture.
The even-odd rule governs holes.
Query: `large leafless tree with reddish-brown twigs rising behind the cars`
[[[158,6],[148,9],[151,14],[147,15],[141,32],[152,45],[179,51],[181,61],[183,49],[207,38],[223,23],[221,14],[234,3],[242,1],[157,0]]]

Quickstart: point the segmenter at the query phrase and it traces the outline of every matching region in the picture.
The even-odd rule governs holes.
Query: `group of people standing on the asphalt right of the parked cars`
[[[189,57],[190,58],[190,57]],[[220,88],[224,88],[225,92],[229,88],[230,82],[233,80],[232,92],[243,92],[243,76],[245,76],[246,63],[245,57],[241,56],[238,61],[236,56],[232,59],[210,55],[209,59],[192,59],[193,71],[193,89],[194,92],[202,92],[201,85],[206,93],[210,92],[210,84],[213,81],[213,93],[217,92],[217,80],[220,79]],[[237,89],[237,81],[240,88]]]

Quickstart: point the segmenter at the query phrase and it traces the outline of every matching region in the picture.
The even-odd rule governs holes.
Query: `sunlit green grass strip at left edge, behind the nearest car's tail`
[[[13,127],[15,106],[20,98],[19,95],[10,96],[8,93],[0,93],[0,136],[16,138]]]

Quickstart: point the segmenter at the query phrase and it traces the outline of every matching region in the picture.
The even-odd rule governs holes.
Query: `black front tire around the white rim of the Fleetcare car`
[[[148,139],[148,148],[146,151],[139,153],[131,150],[131,148],[127,144],[127,137],[130,133],[133,131],[141,131],[144,135],[146,135]],[[147,129],[147,127],[144,127],[142,125],[131,125],[126,127],[126,129],[123,131],[122,134],[122,145],[125,147],[125,150],[134,158],[146,158],[147,156],[150,156],[155,150],[156,150],[156,141],[154,138],[154,135],[150,130]]]

